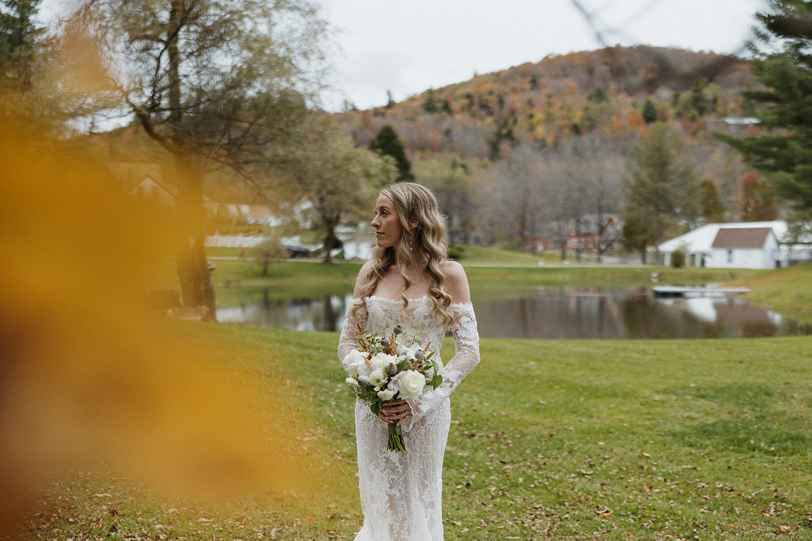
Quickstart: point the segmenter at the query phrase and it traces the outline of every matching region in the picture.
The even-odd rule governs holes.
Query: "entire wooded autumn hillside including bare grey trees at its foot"
[[[749,170],[712,132],[728,131],[723,118],[752,115],[741,91],[758,87],[742,58],[612,47],[475,75],[335,118],[362,147],[384,125],[395,129],[417,181],[440,196],[452,242],[560,248],[564,256],[572,249],[564,247],[568,231],[578,236],[623,211],[629,152],[656,122],[670,127],[696,181],[712,182],[724,219],[740,219]],[[701,218],[690,209],[663,240]],[[622,216],[613,219],[622,224]],[[574,249],[611,251],[619,238],[606,234]]]

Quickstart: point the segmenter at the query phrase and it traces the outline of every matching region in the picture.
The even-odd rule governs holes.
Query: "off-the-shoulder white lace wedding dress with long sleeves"
[[[356,304],[365,304],[352,317]],[[362,330],[388,336],[395,324],[404,335],[418,333],[423,346],[430,350],[440,366],[443,384],[430,393],[409,401],[414,415],[401,425],[406,453],[387,450],[387,423],[356,401],[356,440],[358,447],[358,486],[364,526],[356,541],[441,541],[443,539],[443,453],[451,426],[449,395],[479,363],[477,320],[471,304],[451,304],[451,333],[454,357],[443,366],[440,346],[446,328],[443,318],[432,310],[429,297],[403,302],[374,295],[356,298],[347,310],[341,330],[339,359],[356,343],[356,324]],[[346,368],[346,367],[345,367]],[[431,389],[429,387],[429,389]]]

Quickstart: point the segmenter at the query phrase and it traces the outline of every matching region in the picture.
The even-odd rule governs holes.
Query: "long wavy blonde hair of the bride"
[[[400,276],[404,279],[404,286],[400,288],[400,298],[404,302],[403,311],[408,306],[406,290],[412,285],[412,281],[406,276],[406,269],[414,262],[413,255],[422,252],[428,259],[425,266],[425,274],[430,279],[429,297],[434,303],[434,310],[443,316],[443,324],[448,327],[453,322],[451,312],[451,295],[446,293],[446,276],[440,268],[441,264],[447,260],[447,247],[443,242],[443,235],[446,230],[445,217],[440,214],[437,198],[426,187],[415,182],[397,182],[381,190],[381,195],[386,195],[395,205],[395,211],[400,217],[400,227],[403,228],[403,237],[400,243],[394,247],[374,247],[372,256],[372,266],[365,276],[358,277],[364,285],[361,287],[361,298],[367,298],[373,294],[378,282],[387,269],[392,265],[400,269]],[[417,220],[417,226],[412,230],[409,223]],[[410,248],[414,247],[414,251]],[[355,307],[353,312],[361,308]],[[353,313],[353,316],[356,316]]]

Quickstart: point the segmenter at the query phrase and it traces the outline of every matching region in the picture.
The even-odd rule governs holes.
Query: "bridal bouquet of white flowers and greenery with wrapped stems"
[[[427,384],[437,389],[443,383],[438,363],[431,360],[434,352],[426,353],[430,344],[422,347],[417,334],[399,344],[398,338],[403,334],[400,325],[392,329],[388,338],[361,331],[361,327],[357,329],[356,349],[343,359],[350,373],[346,381],[376,416],[389,401],[421,397]],[[387,449],[406,452],[403,432],[396,423],[389,423]]]

